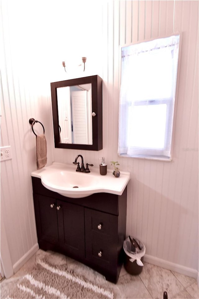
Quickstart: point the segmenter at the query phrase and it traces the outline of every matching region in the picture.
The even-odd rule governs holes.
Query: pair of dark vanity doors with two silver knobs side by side
[[[37,193],[34,206],[39,248],[84,258],[84,208]]]

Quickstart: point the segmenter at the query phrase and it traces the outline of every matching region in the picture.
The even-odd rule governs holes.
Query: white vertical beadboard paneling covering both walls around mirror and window
[[[35,135],[28,123],[34,117],[45,127],[48,164],[72,163],[76,154],[97,167],[102,156],[109,168],[118,160],[131,173],[127,235],[146,245],[146,261],[196,277],[198,1],[75,3],[1,1],[1,146],[12,147],[12,160],[1,162],[1,221],[12,266],[16,271],[37,249],[30,178]],[[182,32],[182,48],[173,161],[118,157],[119,45],[174,32]],[[87,57],[84,74],[79,54]],[[68,57],[66,74],[61,62]],[[103,150],[54,149],[50,82],[92,74],[103,78]]]

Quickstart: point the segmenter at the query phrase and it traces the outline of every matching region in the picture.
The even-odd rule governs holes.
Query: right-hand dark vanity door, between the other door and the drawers
[[[84,207],[57,200],[59,245],[73,258],[85,258]]]

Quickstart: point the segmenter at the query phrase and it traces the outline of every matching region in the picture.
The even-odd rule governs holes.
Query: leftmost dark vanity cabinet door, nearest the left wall
[[[44,244],[45,242],[58,244],[58,223],[55,199],[35,194],[34,206],[38,242],[40,244]]]

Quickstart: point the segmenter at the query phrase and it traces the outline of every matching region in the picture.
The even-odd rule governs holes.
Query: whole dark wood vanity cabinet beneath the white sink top
[[[121,196],[64,197],[32,177],[38,244],[76,259],[116,283],[126,237],[127,187]]]

